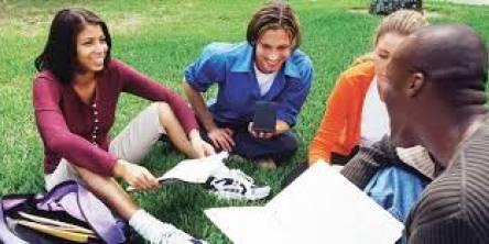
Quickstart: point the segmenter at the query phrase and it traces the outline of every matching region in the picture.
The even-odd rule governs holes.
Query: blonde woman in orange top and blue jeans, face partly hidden
[[[317,162],[346,164],[359,147],[369,147],[390,133],[389,114],[379,95],[377,77],[383,75],[380,70],[384,70],[398,45],[425,25],[423,15],[411,10],[396,11],[382,20],[373,38],[373,52],[357,58],[352,67],[339,76],[311,143],[308,165]],[[393,217],[405,221],[411,206],[428,181],[424,167],[432,164],[426,164],[430,156],[420,146],[398,149],[396,158],[400,164],[379,170],[361,188]],[[284,184],[308,165],[297,167]],[[402,189],[392,186],[393,181],[402,182]]]

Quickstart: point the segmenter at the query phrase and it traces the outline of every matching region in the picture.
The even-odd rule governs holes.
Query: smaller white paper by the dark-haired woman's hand
[[[226,168],[222,160],[228,153],[222,152],[209,157],[186,159],[167,170],[159,180],[178,179],[187,182],[204,184],[215,171]]]

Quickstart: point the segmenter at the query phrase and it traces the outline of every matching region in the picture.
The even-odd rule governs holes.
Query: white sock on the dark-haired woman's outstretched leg
[[[140,209],[132,214],[129,225],[150,243],[162,243],[165,239],[183,237],[191,240],[192,236],[175,226],[163,223],[146,211]]]

